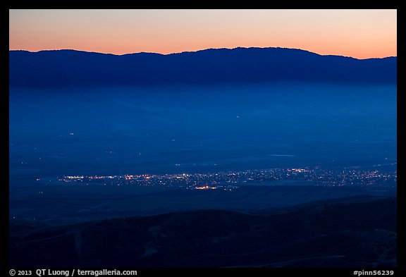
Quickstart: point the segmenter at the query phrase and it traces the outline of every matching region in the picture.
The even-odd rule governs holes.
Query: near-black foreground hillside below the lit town
[[[10,226],[10,266],[394,267],[396,199],[283,213],[183,211],[72,226]]]

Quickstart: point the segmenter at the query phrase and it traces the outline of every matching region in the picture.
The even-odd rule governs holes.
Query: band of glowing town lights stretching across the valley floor
[[[35,180],[68,185],[138,185],[165,186],[195,190],[238,189],[247,185],[296,185],[314,186],[390,186],[395,187],[396,171],[379,171],[376,168],[268,168],[261,170],[228,171],[216,173],[179,174],[125,174],[123,176],[63,176],[37,177]]]

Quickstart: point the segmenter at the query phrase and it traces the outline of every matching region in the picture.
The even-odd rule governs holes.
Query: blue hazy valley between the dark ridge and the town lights
[[[396,159],[396,87],[273,83],[10,92],[10,175],[371,166]]]

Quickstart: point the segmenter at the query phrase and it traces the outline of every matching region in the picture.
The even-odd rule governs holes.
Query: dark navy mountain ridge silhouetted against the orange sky
[[[121,56],[75,50],[10,51],[11,87],[214,85],[261,82],[395,84],[396,57],[353,59],[300,49],[206,49]]]

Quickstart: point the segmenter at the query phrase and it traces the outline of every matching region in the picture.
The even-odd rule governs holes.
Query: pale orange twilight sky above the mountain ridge
[[[9,49],[171,54],[287,47],[357,59],[397,56],[397,11],[10,10]]]

